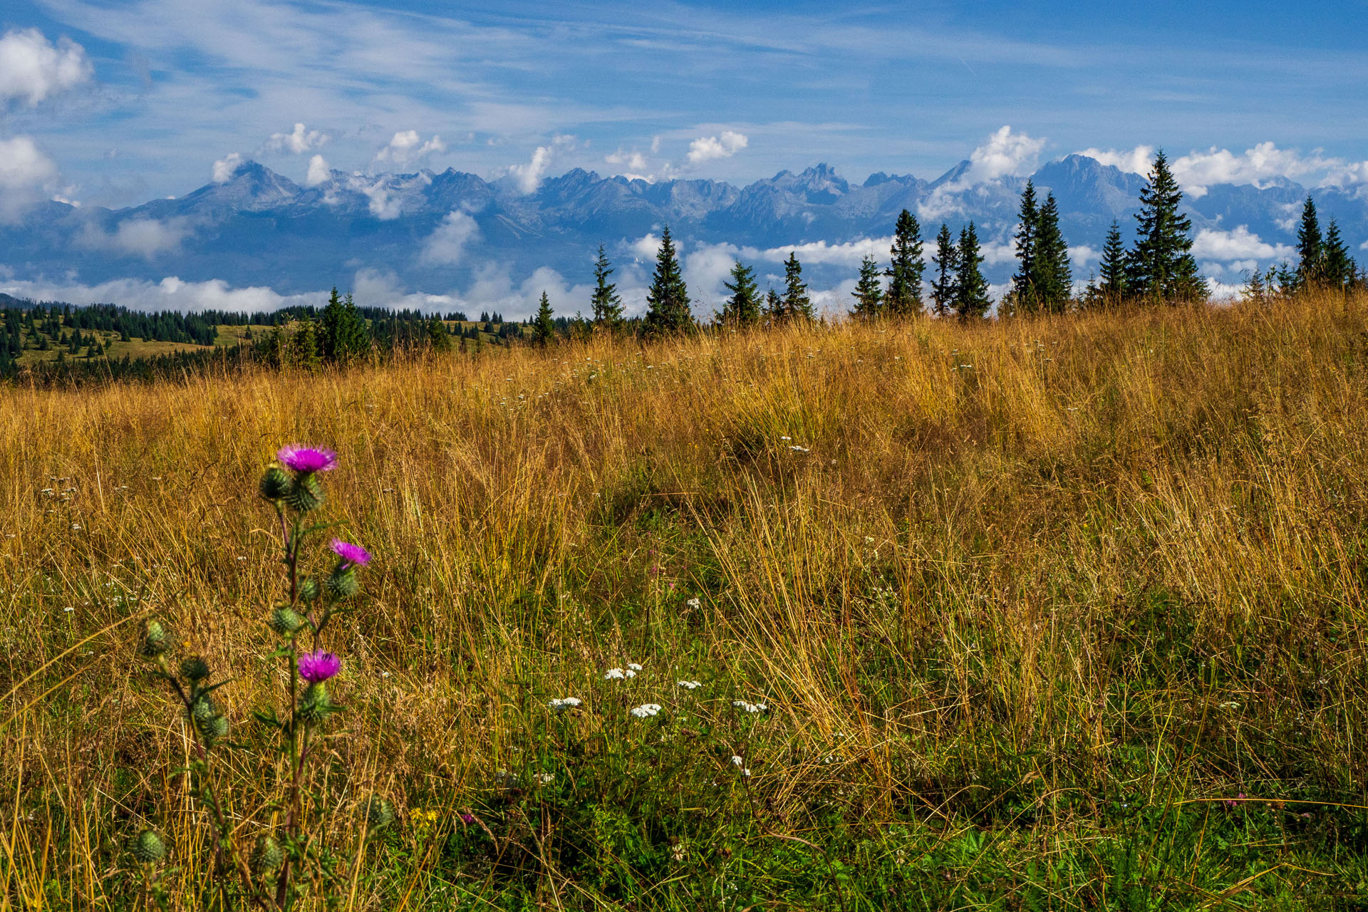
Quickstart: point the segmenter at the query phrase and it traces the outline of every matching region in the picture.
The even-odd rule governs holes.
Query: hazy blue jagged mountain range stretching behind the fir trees
[[[990,247],[988,275],[1004,282],[1011,272],[1007,245],[1026,179],[975,185],[971,174],[963,161],[934,180],[874,174],[851,185],[819,164],[736,187],[718,180],[648,183],[575,170],[523,194],[508,178],[484,180],[454,170],[334,171],[328,180],[305,187],[249,161],[228,180],[181,198],[118,211],[44,204],[22,223],[0,226],[0,264],[15,279],[66,276],[97,284],[178,276],[183,282],[220,279],[234,287],[269,286],[282,294],[350,287],[368,269],[390,276],[395,287],[465,293],[491,271],[516,286],[542,267],[557,271],[566,284],[586,283],[599,243],[624,267],[620,278],[640,278],[650,265],[648,245],[636,242],[669,224],[687,265],[691,254],[726,243],[740,249],[743,258],[757,260],[766,275],[781,272],[776,249],[787,253],[796,245],[833,247],[884,238],[907,208],[922,219],[928,256],[940,222],[958,232],[964,222],[975,220]],[[1140,175],[1071,155],[1031,176],[1041,196],[1049,190],[1057,197],[1071,246],[1100,250],[1114,219],[1129,239],[1130,216],[1145,183]],[[1368,241],[1368,200],[1332,189],[1315,193],[1323,222],[1337,216],[1361,258],[1357,247]],[[1213,241],[1205,253],[1198,250],[1208,273],[1238,282],[1237,272],[1249,260],[1267,265],[1283,256],[1305,196],[1305,187],[1289,180],[1261,189],[1220,185],[1189,196],[1194,231],[1220,232],[1216,241],[1224,232],[1237,235],[1234,243]],[[1237,231],[1241,227],[1246,231]],[[834,286],[854,276],[862,252],[817,250],[806,264],[807,276],[814,287]],[[882,247],[877,252],[886,256]],[[1096,267],[1096,260],[1079,263],[1078,278]],[[715,299],[702,291],[707,309]]]

